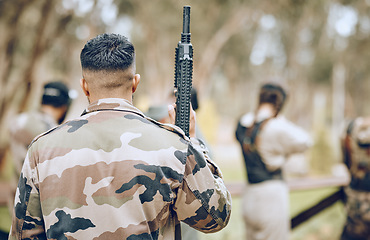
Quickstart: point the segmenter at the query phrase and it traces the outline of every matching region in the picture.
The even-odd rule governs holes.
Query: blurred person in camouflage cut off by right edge
[[[341,139],[351,181],[345,187],[347,221],[341,240],[370,239],[370,117],[351,121]]]

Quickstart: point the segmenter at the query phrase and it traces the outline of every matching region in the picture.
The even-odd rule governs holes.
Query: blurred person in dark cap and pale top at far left
[[[10,122],[10,146],[17,181],[32,140],[64,121],[72,100],[69,93],[70,89],[63,82],[48,82],[43,87],[39,109],[21,113]]]

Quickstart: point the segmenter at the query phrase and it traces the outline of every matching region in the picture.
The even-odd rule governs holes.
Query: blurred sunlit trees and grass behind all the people
[[[134,43],[142,79],[134,104],[143,112],[167,104],[184,5],[191,6],[197,120],[225,181],[245,179],[234,139],[236,123],[254,110],[258,87],[270,80],[288,89],[284,115],[315,140],[307,154],[289,162],[288,179],[342,174],[343,124],[370,114],[370,0],[0,0],[1,181],[12,179],[11,119],[38,108],[45,82],[62,80],[76,90],[67,118],[86,107],[78,85],[79,53],[97,34],[120,33]],[[330,191],[292,192],[292,215]],[[243,238],[240,198],[233,200],[229,226],[217,234],[202,234],[202,239]],[[9,219],[4,206],[4,232],[9,231]],[[344,219],[338,202],[294,229],[292,239],[338,239]]]

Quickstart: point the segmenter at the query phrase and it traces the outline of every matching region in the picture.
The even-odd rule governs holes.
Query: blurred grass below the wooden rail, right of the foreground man
[[[335,191],[333,188],[292,192],[290,194],[291,216],[307,209]],[[337,240],[345,220],[343,204],[335,203],[321,213],[302,223],[290,235],[290,240]],[[241,216],[241,199],[232,199],[232,213],[229,224],[218,233],[199,234],[200,240],[245,239],[244,223]]]

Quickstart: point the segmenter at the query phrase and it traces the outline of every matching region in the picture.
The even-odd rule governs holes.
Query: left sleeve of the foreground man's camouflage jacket
[[[31,168],[29,158],[26,157],[15,194],[9,239],[46,239],[34,175],[35,169]]]

